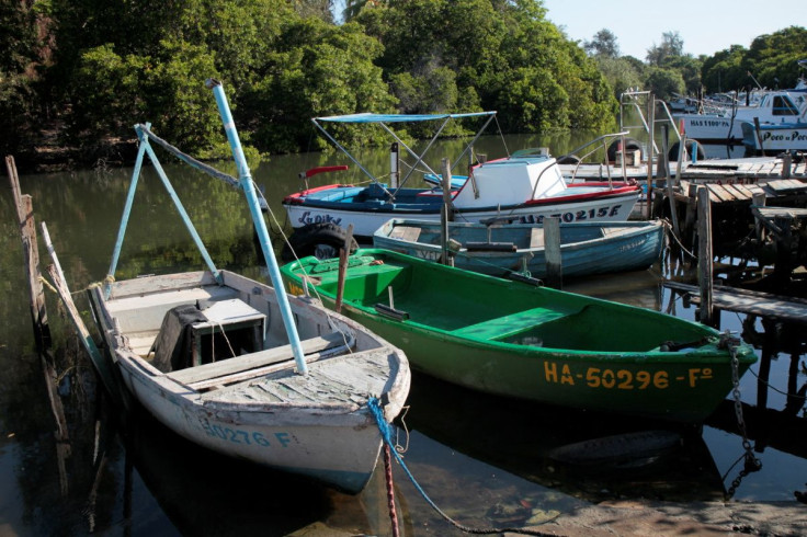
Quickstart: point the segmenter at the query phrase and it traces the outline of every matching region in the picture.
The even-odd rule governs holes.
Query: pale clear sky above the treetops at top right
[[[731,45],[748,48],[754,37],[807,25],[807,0],[544,0],[546,18],[572,41],[591,41],[600,30],[616,36],[620,53],[644,60],[647,49],[678,32],[684,54],[712,56]],[[807,50],[805,50],[807,57]]]

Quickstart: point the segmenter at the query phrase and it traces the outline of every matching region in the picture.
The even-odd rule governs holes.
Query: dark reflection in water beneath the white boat
[[[384,535],[389,515],[380,475],[359,495],[202,448],[145,411],[125,425],[123,523],[135,534]],[[139,479],[148,492],[140,490]],[[155,510],[152,500],[159,510]],[[143,501],[144,503],[139,503]],[[161,511],[168,522],[160,519]],[[152,533],[149,530],[149,534]]]

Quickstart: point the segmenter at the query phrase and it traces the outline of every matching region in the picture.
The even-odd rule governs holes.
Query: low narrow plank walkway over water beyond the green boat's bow
[[[701,295],[696,285],[667,281],[664,287],[686,294],[693,304],[700,304]],[[712,305],[716,309],[750,313],[759,317],[807,324],[807,300],[783,297],[755,290],[715,285],[712,290]]]

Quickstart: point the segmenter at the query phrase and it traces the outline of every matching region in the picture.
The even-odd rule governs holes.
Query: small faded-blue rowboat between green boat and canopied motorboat
[[[560,225],[564,276],[648,268],[661,255],[661,221]],[[493,276],[546,276],[544,228],[537,224],[448,224],[454,266]],[[378,228],[373,245],[440,261],[440,222],[394,218]],[[528,274],[527,274],[528,273]]]

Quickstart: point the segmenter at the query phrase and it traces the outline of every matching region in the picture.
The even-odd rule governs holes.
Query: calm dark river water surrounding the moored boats
[[[511,138],[510,150],[548,146],[558,155],[581,135]],[[490,144],[486,148],[485,144]],[[501,156],[492,140],[477,145],[490,158]],[[435,155],[454,155],[452,144]],[[725,149],[724,149],[725,150]],[[361,156],[380,169],[384,152]],[[251,224],[240,194],[162,158],[169,176],[219,267],[265,277],[252,242]],[[273,215],[283,222],[283,195],[297,191],[297,173],[315,165],[342,163],[332,155],[275,157],[254,170]],[[434,167],[439,163],[433,163]],[[232,173],[232,170],[228,170]],[[319,176],[315,184],[357,179]],[[130,170],[21,178],[31,194],[37,222],[47,222],[73,292],[106,273]],[[0,535],[306,535],[389,534],[382,476],[359,496],[348,496],[284,473],[255,468],[200,449],[140,413],[117,415],[99,392],[77,340],[48,294],[58,393],[68,429],[60,436],[48,401],[27,309],[11,196],[0,198]],[[279,233],[279,228],[273,232]],[[279,235],[277,235],[279,237]],[[280,241],[277,242],[280,245]],[[43,255],[46,255],[42,249]],[[44,260],[45,264],[47,261]],[[117,277],[197,270],[203,266],[158,178],[141,180]],[[613,300],[693,318],[681,300],[659,285],[669,263],[640,273],[567,284]],[[79,309],[88,316],[82,294]],[[723,328],[742,330],[742,316],[723,315]],[[760,322],[746,334],[761,344]],[[803,400],[788,403],[783,392],[805,385],[799,364],[804,343],[796,331],[780,329],[786,351],[774,350],[766,409],[754,409],[757,378],[741,381],[742,401],[762,470],[746,477],[734,500],[792,501],[805,489],[807,449]],[[791,354],[796,367],[789,374]],[[758,370],[758,365],[753,372]],[[583,502],[613,498],[670,501],[719,500],[737,478],[743,449],[734,405],[727,400],[702,431],[683,431],[683,446],[637,468],[562,466],[553,448],[607,435],[657,430],[659,423],[486,397],[416,375],[405,422],[406,460],[434,502],[468,526],[521,525]],[[795,410],[794,410],[795,409]],[[396,469],[399,519],[406,535],[462,535],[420,498]]]

